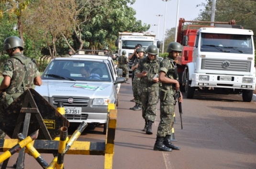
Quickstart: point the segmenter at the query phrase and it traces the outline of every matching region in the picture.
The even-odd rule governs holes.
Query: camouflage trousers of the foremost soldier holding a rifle
[[[175,105],[167,105],[164,102],[160,102],[160,122],[157,128],[158,137],[165,137],[172,134],[172,128],[174,124],[174,112]]]

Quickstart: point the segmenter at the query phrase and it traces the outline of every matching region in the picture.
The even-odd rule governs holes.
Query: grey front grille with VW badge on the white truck
[[[229,65],[225,67],[224,62],[228,61]],[[250,72],[250,61],[237,61],[237,60],[211,60],[202,59],[201,69],[206,70],[221,70],[221,71],[238,71]]]

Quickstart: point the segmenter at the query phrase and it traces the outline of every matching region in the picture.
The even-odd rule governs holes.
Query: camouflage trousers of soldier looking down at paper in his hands
[[[145,120],[155,122],[158,97],[159,89],[151,90],[150,92],[141,92],[142,117]]]

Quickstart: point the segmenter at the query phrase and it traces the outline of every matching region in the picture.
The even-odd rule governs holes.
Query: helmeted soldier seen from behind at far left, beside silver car
[[[3,49],[10,58],[4,64],[2,73],[4,78],[0,84],[0,101],[3,105],[9,106],[27,88],[32,88],[33,84],[40,86],[42,80],[36,63],[22,54],[24,44],[20,38],[16,36],[6,38]],[[0,135],[1,138],[5,137],[3,133]]]

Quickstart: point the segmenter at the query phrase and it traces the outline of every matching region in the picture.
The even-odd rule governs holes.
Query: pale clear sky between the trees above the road
[[[162,41],[164,27],[165,31],[176,27],[178,6],[178,19],[184,18],[185,21],[191,21],[197,18],[200,10],[203,9],[202,7],[197,7],[197,5],[205,1],[206,0],[179,0],[178,5],[178,0],[168,0],[167,2],[163,0],[136,0],[131,7],[136,11],[136,19],[141,20],[142,24],[150,24],[151,27],[148,32],[155,33],[156,39]],[[156,15],[163,16],[159,17]]]

